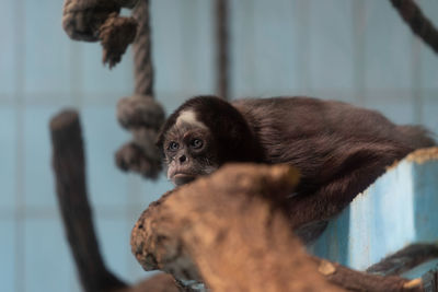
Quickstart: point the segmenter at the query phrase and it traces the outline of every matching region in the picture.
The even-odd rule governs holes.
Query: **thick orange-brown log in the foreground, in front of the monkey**
[[[132,253],[146,270],[211,291],[422,291],[420,280],[358,272],[306,254],[280,206],[288,166],[229,165],[165,194],[140,217]]]

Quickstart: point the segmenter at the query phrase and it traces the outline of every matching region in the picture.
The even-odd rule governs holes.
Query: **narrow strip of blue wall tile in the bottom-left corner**
[[[2,291],[15,291],[15,223],[13,220],[0,221],[0,281]]]

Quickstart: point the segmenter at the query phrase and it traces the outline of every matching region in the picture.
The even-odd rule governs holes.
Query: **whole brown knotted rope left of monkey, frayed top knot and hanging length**
[[[134,9],[132,17],[120,17],[122,8]],[[153,100],[149,1],[66,0],[62,13],[64,30],[72,39],[101,42],[103,62],[110,68],[134,42],[135,94],[117,104],[117,118],[134,139],[117,151],[116,163],[124,171],[155,178],[162,168],[155,139],[165,115]]]

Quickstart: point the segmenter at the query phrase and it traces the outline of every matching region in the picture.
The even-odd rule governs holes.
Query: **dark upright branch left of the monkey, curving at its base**
[[[53,167],[68,242],[87,292],[177,292],[174,279],[159,275],[128,287],[105,266],[94,232],[85,183],[85,159],[78,114],[66,110],[50,121]]]

